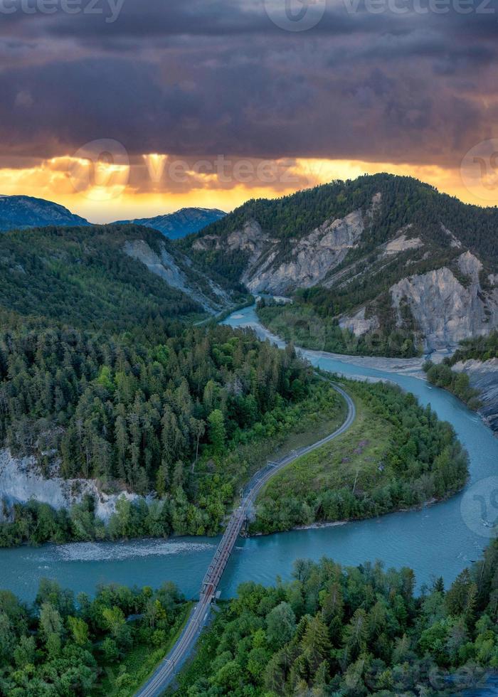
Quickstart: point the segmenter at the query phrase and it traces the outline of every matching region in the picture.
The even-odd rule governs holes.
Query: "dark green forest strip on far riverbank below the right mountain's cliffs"
[[[317,289],[319,292],[319,289]],[[293,304],[281,305],[262,299],[258,303],[258,317],[267,329],[296,346],[351,356],[401,356],[412,358],[420,355],[421,345],[416,339],[413,321],[404,327],[395,326],[389,315],[383,327],[362,336],[355,336],[350,329],[342,328],[337,317],[317,312],[312,304],[304,302],[297,294]]]

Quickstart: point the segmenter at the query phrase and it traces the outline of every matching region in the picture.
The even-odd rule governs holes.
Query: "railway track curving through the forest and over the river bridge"
[[[322,378],[322,376],[319,377],[322,380],[326,380],[326,378]],[[334,431],[334,433],[322,438],[322,440],[312,445],[292,450],[292,452],[282,457],[278,462],[268,463],[250,479],[243,491],[240,505],[233,510],[223,538],[221,538],[216,553],[213,556],[213,560],[206,571],[206,575],[202,582],[199,601],[194,606],[183,632],[181,632],[179,639],[176,641],[171,651],[169,651],[169,654],[161,661],[156,671],[154,671],[152,677],[136,693],[136,697],[159,697],[169,686],[176,672],[191,653],[198,639],[198,635],[206,624],[211,602],[216,597],[223,571],[231,557],[243,524],[248,517],[250,517],[256,497],[260,490],[263,489],[263,486],[265,486],[267,481],[274,477],[277,472],[280,472],[283,467],[287,467],[288,464],[294,462],[298,457],[302,457],[302,455],[312,452],[331,440],[334,440],[334,438],[337,438],[341,433],[348,430],[354,422],[356,408],[353,400],[345,390],[339,387],[339,385],[332,382],[330,384],[332,388],[346,400],[348,415],[343,425]]]

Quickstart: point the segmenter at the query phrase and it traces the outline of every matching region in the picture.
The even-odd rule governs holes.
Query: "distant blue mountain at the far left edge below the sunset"
[[[0,232],[43,225],[89,225],[64,206],[32,196],[0,196]]]

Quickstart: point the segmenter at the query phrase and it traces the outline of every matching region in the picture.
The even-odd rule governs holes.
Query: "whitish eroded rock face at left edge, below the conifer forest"
[[[0,449],[0,500],[5,502],[7,508],[34,499],[60,510],[69,509],[79,503],[85,494],[91,494],[96,501],[97,518],[107,521],[115,512],[120,496],[130,501],[138,498],[137,494],[127,492],[103,494],[95,479],[62,479],[58,472],[53,474],[53,477],[46,479],[34,457],[16,458],[9,449]]]

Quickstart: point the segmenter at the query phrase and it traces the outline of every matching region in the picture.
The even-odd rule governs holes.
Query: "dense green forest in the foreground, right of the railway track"
[[[181,697],[455,695],[498,667],[498,543],[414,595],[408,568],[298,560],[290,582],[246,582],[179,678]]]

